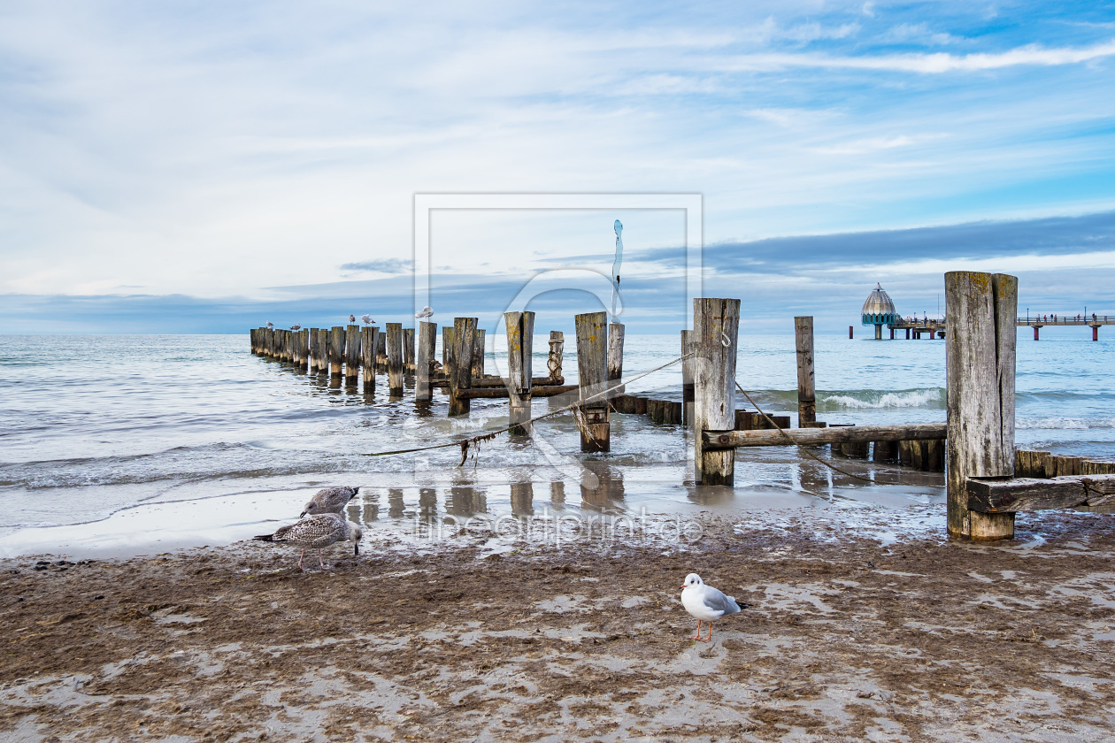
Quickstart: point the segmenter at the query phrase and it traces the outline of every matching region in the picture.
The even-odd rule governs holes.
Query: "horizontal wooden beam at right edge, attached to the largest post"
[[[969,510],[981,514],[1115,504],[1115,475],[968,478],[967,488]]]

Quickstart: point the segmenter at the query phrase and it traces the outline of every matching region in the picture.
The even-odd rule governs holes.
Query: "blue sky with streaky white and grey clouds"
[[[494,196],[429,213],[443,322],[608,275],[617,218],[629,332],[683,326],[695,224],[745,332],[950,270],[1115,314],[1113,68],[1103,1],[4,2],[0,333],[405,320],[423,194]],[[601,309],[566,284],[543,322]]]

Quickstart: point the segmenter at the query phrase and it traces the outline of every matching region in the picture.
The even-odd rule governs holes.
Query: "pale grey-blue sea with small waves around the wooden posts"
[[[1087,329],[1020,329],[1016,443],[1115,458],[1115,342]],[[535,375],[546,369],[544,334]],[[572,339],[571,333],[566,338]],[[502,339],[496,339],[502,340]],[[566,344],[563,373],[576,379]],[[680,400],[677,335],[629,335],[629,393]],[[498,373],[505,348],[489,349]],[[944,421],[940,340],[815,339],[817,418]],[[661,369],[659,369],[662,366]],[[653,371],[656,370],[657,371]],[[737,380],[755,405],[796,420],[794,339],[741,334]],[[0,335],[0,556],[128,556],[225,545],[295,519],[318,489],[359,487],[350,519],[397,544],[530,519],[640,517],[740,524],[772,509],[940,505],[943,476],[834,456],[739,450],[731,488],[694,483],[691,434],[612,414],[611,451],[580,451],[576,420],[540,399],[533,436],[458,442],[507,424],[505,400],[448,418],[413,380],[391,399],[253,355],[243,335]],[[753,409],[739,395],[737,408]],[[440,448],[435,448],[440,447]],[[382,456],[403,449],[421,451]],[[943,519],[943,507],[940,519]],[[487,525],[485,527],[485,525]],[[392,544],[395,544],[392,542]]]

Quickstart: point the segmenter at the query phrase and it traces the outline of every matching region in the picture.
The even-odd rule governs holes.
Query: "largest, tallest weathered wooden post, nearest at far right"
[[[952,536],[1009,539],[1014,514],[968,509],[967,480],[1015,475],[1015,320],[1018,278],[944,274],[948,524]]]

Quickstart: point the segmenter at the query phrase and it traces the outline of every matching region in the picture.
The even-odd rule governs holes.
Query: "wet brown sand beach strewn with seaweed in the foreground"
[[[809,516],[704,526],[685,547],[369,540],[359,560],[337,548],[331,569],[306,574],[297,553],[258,542],[3,560],[0,731],[9,741],[1115,737],[1115,516],[1020,518],[1019,538],[997,545],[948,542],[939,529],[883,544]],[[696,622],[678,598],[689,571],[748,605],[716,623],[709,644],[689,639]]]

